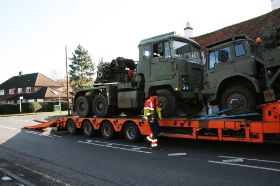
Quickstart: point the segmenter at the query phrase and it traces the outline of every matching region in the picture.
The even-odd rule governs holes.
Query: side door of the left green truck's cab
[[[169,42],[153,45],[151,58],[150,81],[169,80],[174,78],[174,59],[170,58]]]

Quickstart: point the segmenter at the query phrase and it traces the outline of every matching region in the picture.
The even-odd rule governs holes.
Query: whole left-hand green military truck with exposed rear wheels
[[[133,60],[117,58],[99,69],[98,83],[75,93],[74,110],[78,116],[108,117],[120,112],[134,116],[155,92],[165,117],[202,110],[199,92],[203,64],[195,41],[171,32],[144,39],[138,47],[137,65]]]

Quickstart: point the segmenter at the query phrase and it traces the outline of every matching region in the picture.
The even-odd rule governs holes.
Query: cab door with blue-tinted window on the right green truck
[[[229,46],[210,50],[207,57],[204,85],[207,92],[212,94],[224,77],[235,74],[235,65]]]

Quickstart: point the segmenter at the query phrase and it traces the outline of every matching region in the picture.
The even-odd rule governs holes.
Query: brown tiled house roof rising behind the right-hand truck
[[[253,19],[234,24],[220,30],[207,33],[193,38],[202,48],[205,46],[221,41],[236,35],[247,35],[255,40],[260,37],[262,32],[268,27],[279,27],[280,25],[280,8],[275,9],[267,14],[255,17]]]

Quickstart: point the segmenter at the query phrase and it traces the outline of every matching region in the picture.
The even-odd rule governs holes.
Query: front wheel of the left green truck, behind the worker
[[[166,89],[160,89],[157,91],[160,108],[163,117],[172,117],[175,115],[175,99],[173,94]]]

